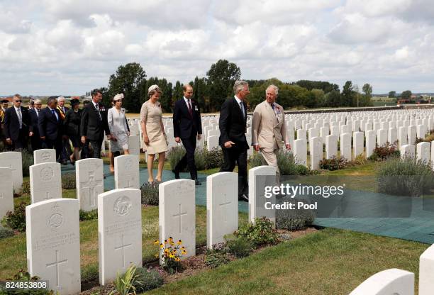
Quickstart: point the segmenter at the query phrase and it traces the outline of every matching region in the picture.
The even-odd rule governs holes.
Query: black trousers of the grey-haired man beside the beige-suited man
[[[238,196],[249,194],[249,184],[247,182],[247,149],[244,147],[226,148],[223,150],[223,166],[220,172],[233,172],[235,164],[238,165]]]

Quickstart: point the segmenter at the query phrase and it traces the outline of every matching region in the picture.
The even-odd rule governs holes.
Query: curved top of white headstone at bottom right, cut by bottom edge
[[[366,279],[350,295],[414,295],[414,274],[386,269]]]

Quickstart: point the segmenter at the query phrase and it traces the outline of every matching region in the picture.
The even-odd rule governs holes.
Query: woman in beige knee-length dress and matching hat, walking
[[[162,91],[157,85],[148,89],[148,101],[140,110],[140,126],[142,127],[145,150],[148,152],[148,182],[154,182],[152,164],[155,154],[158,154],[157,182],[161,182],[162,169],[165,165],[165,156],[168,149],[165,126],[162,123],[161,105],[158,102]]]

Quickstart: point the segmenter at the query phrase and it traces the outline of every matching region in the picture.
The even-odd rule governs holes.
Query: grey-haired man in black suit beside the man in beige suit
[[[220,172],[233,172],[235,162],[238,164],[238,199],[248,201],[249,187],[247,184],[247,150],[249,145],[245,138],[247,123],[246,96],[250,93],[249,84],[236,81],[233,86],[235,96],[221,106],[219,144],[223,150],[223,166]]]

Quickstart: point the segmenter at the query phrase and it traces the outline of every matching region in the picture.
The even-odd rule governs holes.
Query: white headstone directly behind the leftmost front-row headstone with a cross
[[[42,163],[29,167],[30,200],[32,204],[62,198],[62,179],[59,163]]]

